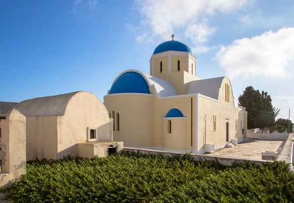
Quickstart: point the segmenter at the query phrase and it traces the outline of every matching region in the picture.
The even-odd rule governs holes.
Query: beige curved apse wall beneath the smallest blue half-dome
[[[171,121],[172,131],[168,133],[168,121]],[[162,119],[162,147],[169,150],[187,149],[187,119]],[[190,137],[191,139],[191,137]]]

